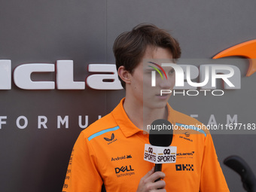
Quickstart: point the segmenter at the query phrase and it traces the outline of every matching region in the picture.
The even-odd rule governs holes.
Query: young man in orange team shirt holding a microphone
[[[181,54],[178,42],[154,25],[139,25],[121,34],[114,42],[114,56],[126,97],[114,110],[82,131],[72,151],[63,191],[229,191],[207,131],[175,130],[176,163],[154,164],[143,160],[148,141],[145,125],[166,119],[178,127],[202,125],[173,110],[168,104],[175,71],[163,67],[166,79],[156,77],[151,85],[155,61],[174,62]],[[149,62],[148,62],[149,61]],[[152,62],[150,62],[152,61]],[[154,61],[154,62],[153,62]],[[159,69],[159,68],[157,68]],[[160,181],[155,181],[162,178]]]

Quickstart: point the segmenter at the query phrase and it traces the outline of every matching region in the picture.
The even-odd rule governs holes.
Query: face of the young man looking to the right
[[[172,90],[175,85],[175,71],[172,67],[163,67],[163,71],[157,66],[162,62],[173,63],[172,52],[167,48],[148,47],[142,61],[136,66],[132,75],[131,91],[136,100],[145,108],[164,108],[171,94],[160,95],[160,90]],[[157,65],[155,65],[154,62]],[[163,78],[160,76],[162,74]],[[155,87],[152,87],[152,72],[155,71]]]

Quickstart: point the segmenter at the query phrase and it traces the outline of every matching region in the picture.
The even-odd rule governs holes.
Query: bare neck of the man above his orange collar
[[[140,130],[147,131],[147,126],[151,125],[154,120],[167,119],[167,108],[146,108],[141,103],[125,99],[123,102],[124,111],[127,116]]]

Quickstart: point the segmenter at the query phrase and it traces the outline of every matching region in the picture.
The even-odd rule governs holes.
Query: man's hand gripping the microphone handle
[[[154,182],[157,178],[164,178],[166,175],[163,172],[154,172],[154,167],[139,181],[137,192],[166,192],[166,182],[163,180]]]

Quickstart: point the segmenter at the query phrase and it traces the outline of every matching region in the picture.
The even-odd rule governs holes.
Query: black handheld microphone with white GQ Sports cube
[[[162,170],[162,163],[176,163],[177,147],[172,144],[173,127],[168,120],[158,119],[151,123],[149,144],[145,144],[144,160],[155,163],[154,172]],[[159,181],[158,178],[156,181]]]

